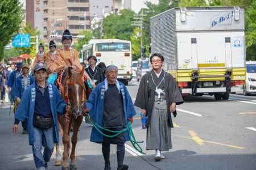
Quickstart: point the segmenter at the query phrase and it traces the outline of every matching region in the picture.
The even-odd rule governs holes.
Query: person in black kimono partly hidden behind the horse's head
[[[90,66],[88,66],[85,71],[90,76],[92,81],[98,85],[98,83],[102,82],[105,79],[105,75],[103,71],[96,66],[97,58],[95,56],[89,56],[88,62]]]

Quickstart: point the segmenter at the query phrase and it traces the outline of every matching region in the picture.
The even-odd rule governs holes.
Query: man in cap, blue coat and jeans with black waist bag
[[[23,92],[15,118],[19,121],[27,118],[28,140],[32,146],[36,168],[45,170],[51,159],[54,143],[59,142],[57,114],[69,112],[70,107],[66,107],[59,90],[53,84],[47,84],[44,63],[36,63],[34,75],[35,82]],[[13,131],[18,132],[18,125],[13,126]]]

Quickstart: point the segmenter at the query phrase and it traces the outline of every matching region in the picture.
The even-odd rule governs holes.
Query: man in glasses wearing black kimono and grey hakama
[[[174,125],[171,113],[176,116],[176,104],[183,103],[175,79],[162,69],[163,61],[160,53],[152,54],[152,70],[142,77],[134,103],[147,116],[146,148],[155,150],[155,161],[164,158],[162,151],[172,148],[171,128],[174,128]]]

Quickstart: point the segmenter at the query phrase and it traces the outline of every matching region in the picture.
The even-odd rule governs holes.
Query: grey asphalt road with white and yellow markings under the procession
[[[138,83],[127,86],[135,99]],[[11,133],[13,115],[10,105],[0,106],[0,169],[36,169],[27,135]],[[138,141],[146,141],[146,129],[135,116],[133,131]],[[139,154],[126,143],[125,163],[129,169],[256,169],[256,96],[231,95],[229,100],[216,101],[212,96],[187,97],[177,106],[175,128],[172,129],[173,149],[164,152],[166,159],[154,162],[154,151]],[[101,145],[89,142],[91,127],[82,124],[77,143],[77,167],[79,169],[104,169]],[[62,150],[62,149],[61,149]],[[112,146],[112,169],[117,169],[115,146]],[[48,169],[54,167],[54,158]]]

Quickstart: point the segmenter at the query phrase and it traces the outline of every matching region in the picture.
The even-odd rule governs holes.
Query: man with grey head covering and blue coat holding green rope
[[[106,79],[92,91],[89,99],[85,103],[86,112],[94,122],[109,130],[123,130],[127,127],[127,122],[132,120],[136,114],[133,101],[125,85],[117,80],[118,68],[110,65],[106,67]],[[105,134],[112,133],[103,130]],[[102,143],[102,153],[105,160],[104,170],[110,170],[110,144],[117,145],[118,170],[128,169],[128,165],[123,164],[125,156],[125,142],[129,141],[128,131],[119,134],[117,137],[108,138],[100,134],[94,127],[90,136],[90,141]]]

